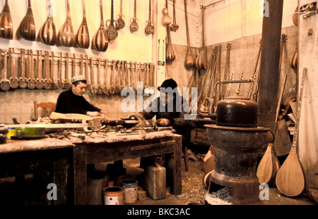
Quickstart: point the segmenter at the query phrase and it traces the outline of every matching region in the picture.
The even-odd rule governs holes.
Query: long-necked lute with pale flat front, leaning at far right
[[[298,101],[292,148],[290,150],[290,153],[288,154],[288,157],[285,159],[283,165],[281,165],[281,168],[278,170],[278,173],[276,175],[276,187],[279,192],[285,194],[286,196],[298,196],[305,189],[305,177],[297,155],[297,144],[300,111],[306,75],[307,68],[304,68],[300,86],[300,96]]]

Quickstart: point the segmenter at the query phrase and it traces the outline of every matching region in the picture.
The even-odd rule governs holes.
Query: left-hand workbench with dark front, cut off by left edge
[[[73,192],[68,193],[67,172],[73,161],[73,146],[71,142],[50,138],[8,140],[7,144],[0,144],[0,177],[49,171],[52,183],[57,185],[57,200],[52,200],[52,204],[70,204]]]

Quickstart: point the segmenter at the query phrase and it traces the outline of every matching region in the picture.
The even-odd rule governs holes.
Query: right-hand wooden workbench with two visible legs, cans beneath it
[[[74,204],[86,204],[86,164],[165,154],[170,194],[182,194],[182,136],[171,131],[86,137],[73,148]]]

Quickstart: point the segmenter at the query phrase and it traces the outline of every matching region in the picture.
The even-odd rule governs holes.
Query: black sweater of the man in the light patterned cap
[[[57,98],[57,113],[79,113],[86,115],[87,111],[98,111],[101,109],[90,104],[83,96],[73,94],[72,90],[66,90]]]

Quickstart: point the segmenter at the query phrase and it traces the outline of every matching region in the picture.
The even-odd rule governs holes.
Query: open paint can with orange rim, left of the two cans
[[[122,187],[105,187],[102,192],[104,193],[105,205],[124,204],[124,189]]]

